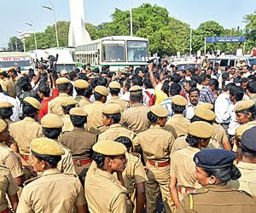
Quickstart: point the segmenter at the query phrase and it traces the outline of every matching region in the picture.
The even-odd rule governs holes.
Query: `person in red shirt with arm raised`
[[[55,97],[59,95],[58,89],[56,89],[56,83],[55,83],[55,78],[52,79],[52,95],[49,96],[50,94],[50,88],[47,84],[44,84],[42,86],[39,86],[38,88],[38,95],[42,99],[41,101],[41,109],[39,110],[39,121],[48,113],[48,102]]]

